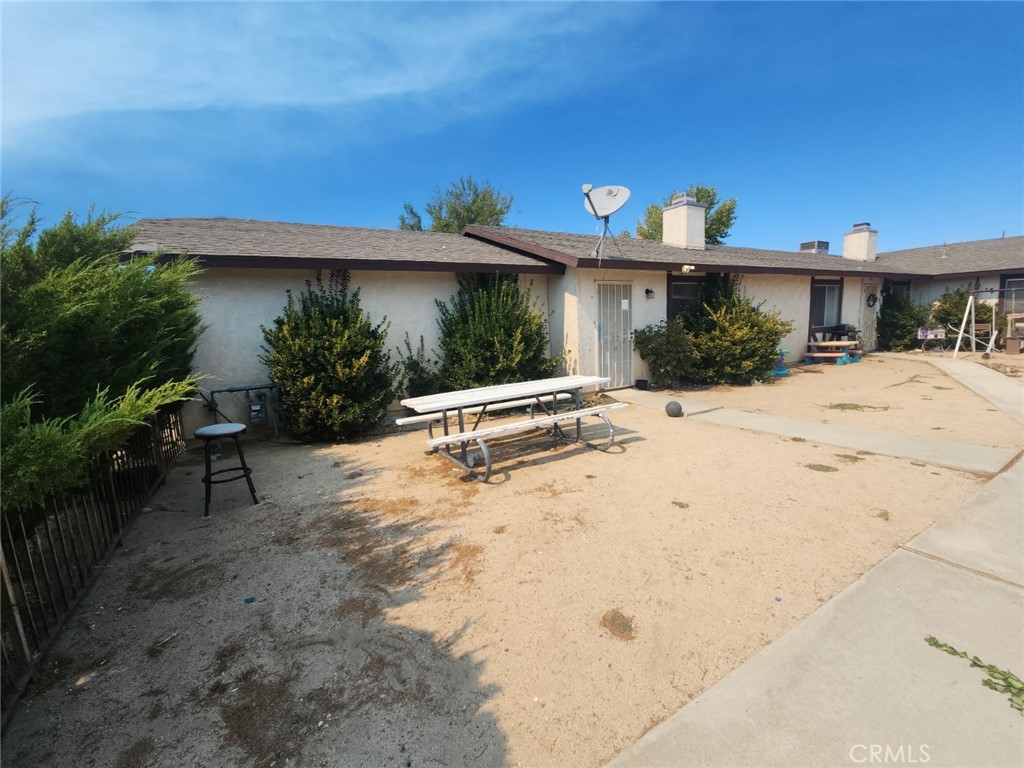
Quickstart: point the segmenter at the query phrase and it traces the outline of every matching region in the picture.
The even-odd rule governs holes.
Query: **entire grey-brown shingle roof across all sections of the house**
[[[410,232],[354,226],[231,218],[142,219],[133,253],[187,252],[207,266],[561,272],[596,267],[596,234],[502,226],[463,233]],[[1024,271],[1024,238],[1000,238],[880,253],[878,261],[760,248],[679,248],[658,241],[606,238],[605,268],[884,276]]]

